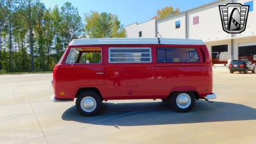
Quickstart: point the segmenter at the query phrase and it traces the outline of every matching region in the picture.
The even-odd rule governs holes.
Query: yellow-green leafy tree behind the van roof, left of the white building
[[[85,35],[89,38],[125,37],[124,27],[116,15],[90,12],[85,15]]]

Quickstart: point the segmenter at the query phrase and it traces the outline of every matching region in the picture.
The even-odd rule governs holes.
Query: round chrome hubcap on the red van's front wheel
[[[88,97],[84,97],[81,100],[80,105],[83,111],[90,113],[95,110],[97,103],[96,103],[96,100],[93,99],[93,97],[88,96]]]

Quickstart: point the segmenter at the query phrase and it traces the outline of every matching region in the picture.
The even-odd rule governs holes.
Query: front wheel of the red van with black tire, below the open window
[[[89,100],[89,102],[93,103],[93,108],[82,108],[81,102],[82,100]],[[84,105],[83,105],[84,106]],[[83,116],[93,116],[99,113],[100,109],[102,108],[102,99],[98,93],[88,91],[88,92],[83,92],[77,95],[76,99],[76,109],[77,112],[80,113]],[[86,109],[86,110],[84,110]]]

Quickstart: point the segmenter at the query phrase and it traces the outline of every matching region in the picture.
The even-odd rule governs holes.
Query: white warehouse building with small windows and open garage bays
[[[250,5],[246,30],[240,34],[223,31],[219,5]],[[220,0],[160,20],[148,20],[125,27],[128,38],[163,37],[202,39],[212,54],[226,52],[231,60],[249,58],[256,63],[255,0]],[[213,56],[213,55],[212,55]],[[253,59],[254,58],[254,59]]]

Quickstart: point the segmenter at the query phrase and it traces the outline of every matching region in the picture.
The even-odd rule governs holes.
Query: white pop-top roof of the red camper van
[[[202,40],[179,38],[82,38],[69,45],[204,45]]]

